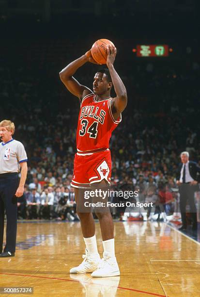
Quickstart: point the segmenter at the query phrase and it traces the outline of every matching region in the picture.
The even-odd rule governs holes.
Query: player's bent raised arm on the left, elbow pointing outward
[[[88,87],[80,84],[73,77],[73,75],[77,71],[77,69],[80,68],[81,66],[83,66],[87,62],[95,63],[95,61],[92,59],[92,56],[91,56],[91,49],[89,51],[87,51],[84,55],[82,55],[80,58],[78,58],[77,60],[68,64],[59,73],[60,78],[61,78],[62,82],[64,83],[64,85],[66,86],[66,88],[73,95],[77,96],[79,99],[92,93],[92,91]]]

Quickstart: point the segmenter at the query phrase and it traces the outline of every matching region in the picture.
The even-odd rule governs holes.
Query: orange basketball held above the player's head
[[[96,63],[100,65],[106,64],[107,56],[108,56],[106,47],[109,44],[114,46],[112,41],[108,39],[98,39],[97,41],[94,42],[94,44],[92,45],[91,53],[92,53],[92,58]]]

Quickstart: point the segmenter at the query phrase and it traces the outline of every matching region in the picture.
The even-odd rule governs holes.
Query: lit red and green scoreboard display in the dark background
[[[168,45],[137,45],[137,57],[168,57]]]

